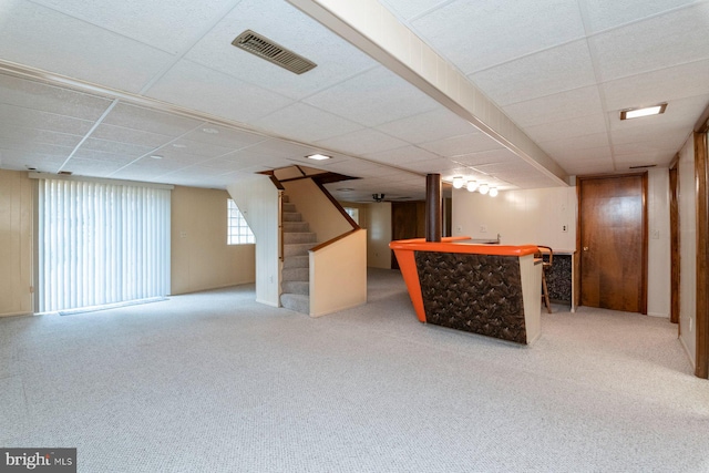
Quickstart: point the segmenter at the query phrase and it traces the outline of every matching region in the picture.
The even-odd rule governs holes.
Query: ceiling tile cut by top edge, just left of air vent
[[[194,39],[204,34],[216,19],[238,0],[191,0],[145,2],[86,2],[85,0],[35,0],[59,12],[81,19],[99,28],[132,38],[154,48],[176,54]],[[155,28],[160,25],[160,28]]]

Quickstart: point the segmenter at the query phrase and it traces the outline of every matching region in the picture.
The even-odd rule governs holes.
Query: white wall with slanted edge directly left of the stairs
[[[278,189],[268,176],[255,174],[227,191],[256,237],[256,300],[278,307]]]

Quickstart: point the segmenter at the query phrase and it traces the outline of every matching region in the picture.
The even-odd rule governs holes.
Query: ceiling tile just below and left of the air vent
[[[291,103],[290,99],[185,60],[163,75],[146,95],[242,123]]]

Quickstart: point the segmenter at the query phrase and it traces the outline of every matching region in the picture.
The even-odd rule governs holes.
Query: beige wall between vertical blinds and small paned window
[[[254,245],[227,245],[228,198],[218,189],[173,189],[171,294],[254,282]]]

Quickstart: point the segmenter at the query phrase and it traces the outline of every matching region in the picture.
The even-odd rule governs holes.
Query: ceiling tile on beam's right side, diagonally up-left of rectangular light
[[[586,40],[531,54],[469,78],[502,106],[596,83]]]

